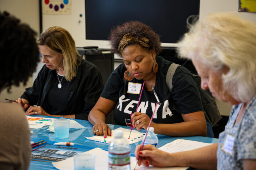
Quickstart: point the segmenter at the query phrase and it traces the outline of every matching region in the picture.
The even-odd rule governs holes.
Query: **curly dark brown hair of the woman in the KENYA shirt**
[[[132,33],[138,37],[146,37],[149,40],[148,44],[150,49],[154,48],[156,55],[161,52],[162,48],[159,35],[155,33],[153,29],[140,21],[129,21],[123,25],[117,25],[116,27],[113,27],[110,31],[109,41],[114,53],[121,56],[120,52],[118,51],[119,42],[127,33]],[[128,45],[132,44],[134,43]]]

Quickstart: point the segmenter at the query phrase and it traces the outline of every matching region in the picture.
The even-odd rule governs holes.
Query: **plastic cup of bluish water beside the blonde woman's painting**
[[[64,139],[69,137],[69,122],[70,119],[54,120],[54,133],[56,139]]]

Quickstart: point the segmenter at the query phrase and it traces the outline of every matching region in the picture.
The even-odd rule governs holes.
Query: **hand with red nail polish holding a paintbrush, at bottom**
[[[170,165],[170,154],[164,151],[157,149],[153,145],[144,145],[143,149],[140,150],[142,145],[136,146],[135,149],[135,156],[138,160],[138,165],[143,166],[157,166],[157,167],[166,167],[166,166],[173,166]]]

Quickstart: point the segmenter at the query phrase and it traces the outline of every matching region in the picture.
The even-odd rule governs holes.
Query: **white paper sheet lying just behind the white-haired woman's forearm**
[[[197,149],[197,148],[212,145],[212,144],[213,143],[204,143],[204,142],[189,141],[184,139],[176,139],[175,141],[167,143],[166,145],[159,147],[158,149],[168,153],[175,153],[175,152],[181,152],[181,151],[189,151],[189,150]]]

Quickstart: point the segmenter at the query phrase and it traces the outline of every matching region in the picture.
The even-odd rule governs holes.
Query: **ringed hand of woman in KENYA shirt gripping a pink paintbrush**
[[[135,112],[131,116],[132,118],[132,125],[133,127],[136,127],[137,131],[141,130],[141,128],[144,128],[147,130],[148,124],[150,122],[150,117],[146,115],[145,113]],[[151,126],[154,127],[154,122],[151,122]]]

